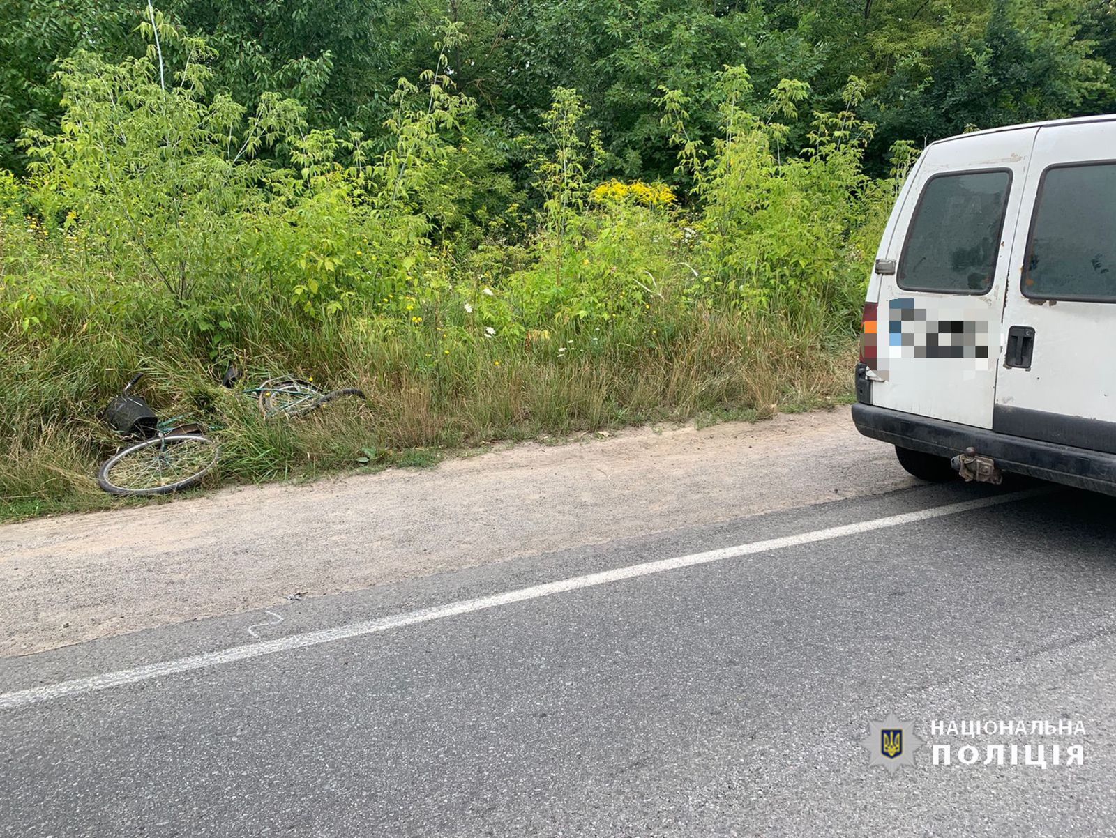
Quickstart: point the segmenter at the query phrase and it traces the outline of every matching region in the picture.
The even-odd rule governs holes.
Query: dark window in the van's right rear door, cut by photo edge
[[[1116,302],[1116,164],[1042,173],[1023,266],[1026,297]]]

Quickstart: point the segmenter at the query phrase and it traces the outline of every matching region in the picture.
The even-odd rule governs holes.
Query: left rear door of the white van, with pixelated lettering
[[[878,287],[874,405],[992,427],[1009,257],[1036,133],[963,136],[920,160],[869,286]]]

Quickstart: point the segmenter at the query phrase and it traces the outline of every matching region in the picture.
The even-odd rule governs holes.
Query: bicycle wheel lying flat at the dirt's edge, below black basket
[[[217,443],[201,434],[156,436],[106,460],[97,483],[110,494],[169,494],[198,483],[217,455]]]

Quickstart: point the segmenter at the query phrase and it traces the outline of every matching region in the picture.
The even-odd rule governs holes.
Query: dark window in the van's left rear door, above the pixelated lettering
[[[931,177],[911,220],[898,286],[908,291],[987,293],[992,288],[1011,173]]]

